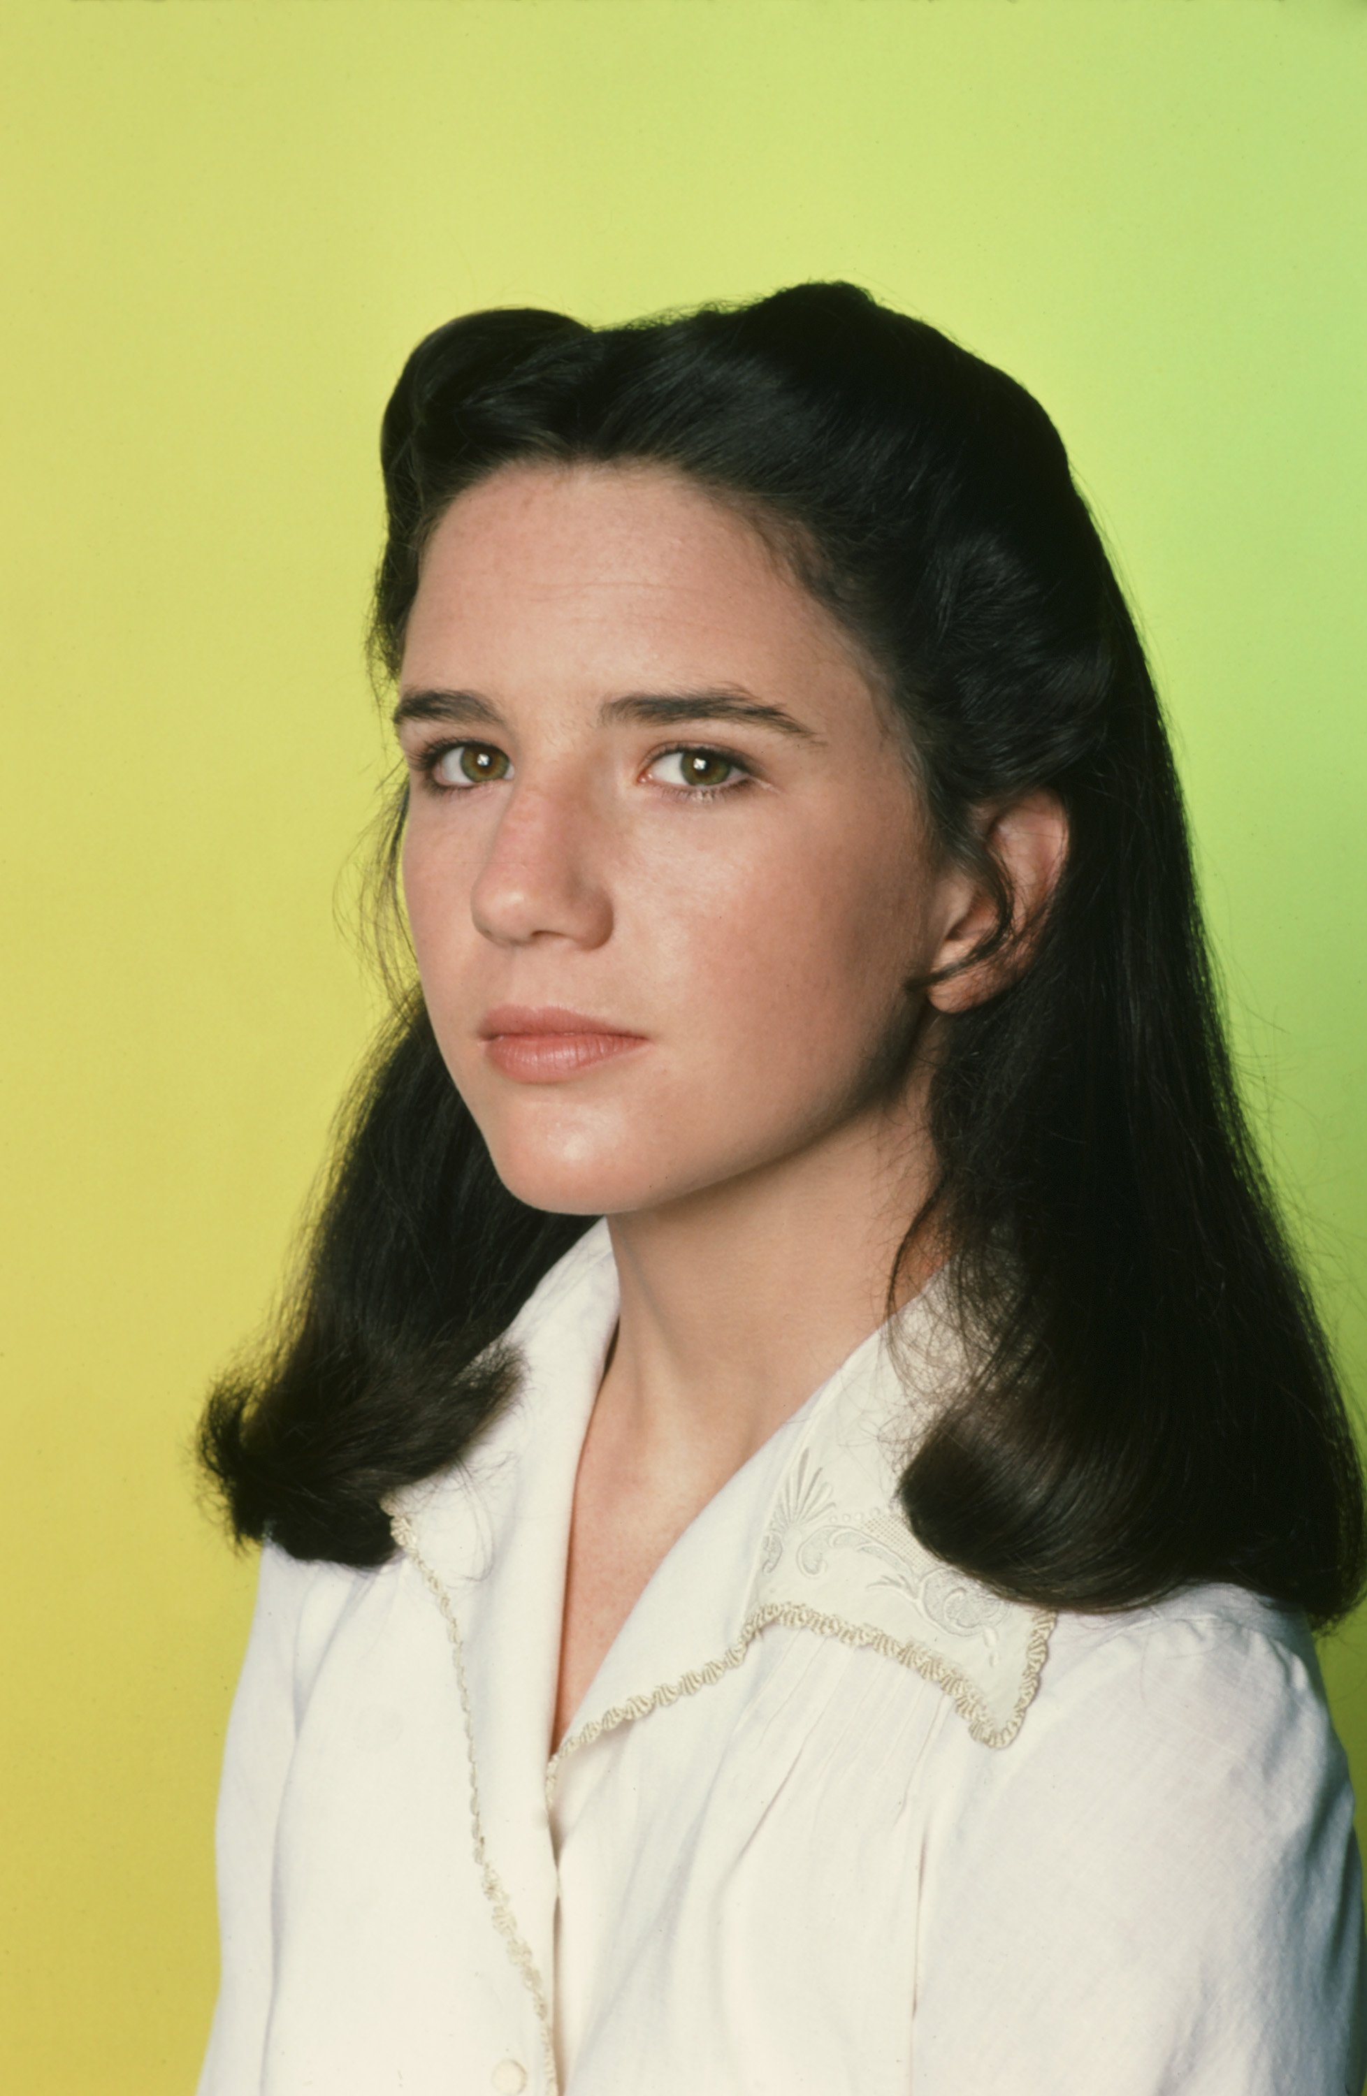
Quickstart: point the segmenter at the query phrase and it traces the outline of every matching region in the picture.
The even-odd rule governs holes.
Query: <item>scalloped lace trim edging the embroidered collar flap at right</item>
[[[547,1800],[554,1798],[556,1775],[566,1754],[577,1752],[581,1746],[591,1746],[591,1742],[604,1731],[614,1731],[619,1725],[631,1723],[631,1719],[648,1717],[652,1710],[679,1702],[681,1696],[696,1696],[698,1689],[707,1689],[713,1681],[721,1681],[721,1675],[740,1666],[746,1652],[769,1622],[786,1622],[801,1631],[818,1631],[822,1637],[837,1637],[843,1645],[860,1645],[872,1652],[883,1652],[889,1660],[897,1660],[902,1666],[912,1666],[923,1681],[931,1681],[935,1687],[946,1691],[979,1746],[1011,1746],[1021,1729],[1029,1704],[1034,1702],[1036,1687],[1040,1685],[1040,1671],[1048,1658],[1048,1639],[1057,1620],[1057,1610],[1042,1610],[1036,1616],[1029,1643],[1025,1645],[1025,1668],[1015,1708],[1004,1725],[994,1725],[992,1712],[973,1681],[969,1681],[969,1677],[950,1660],[941,1658],[941,1654],[931,1652],[927,1645],[918,1645],[916,1639],[899,1643],[895,1637],[889,1637],[887,1631],[876,1631],[868,1622],[847,1622],[845,1616],[826,1616],[822,1610],[807,1608],[803,1601],[765,1601],[763,1608],[757,1608],[751,1616],[746,1616],[736,1643],[728,1645],[719,1658],[709,1660],[707,1666],[690,1666],[688,1673],[681,1673],[675,1681],[663,1681],[656,1689],[650,1689],[648,1696],[629,1696],[627,1702],[612,1704],[612,1708],[604,1710],[602,1717],[595,1717],[591,1725],[583,1725],[581,1731],[572,1731],[568,1740],[562,1740],[558,1752],[551,1754],[545,1769]]]

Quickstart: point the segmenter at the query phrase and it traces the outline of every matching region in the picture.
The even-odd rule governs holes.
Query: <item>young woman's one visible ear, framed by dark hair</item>
[[[929,1002],[941,1012],[967,1012],[973,1004],[983,1004],[1006,989],[1025,966],[1067,855],[1063,803],[1044,788],[1023,794],[1008,807],[996,803],[981,809],[979,834],[1013,895],[1011,931],[992,954],[973,960],[996,926],[996,903],[983,882],[969,885],[964,893],[960,876],[954,920],[933,960],[935,973],[941,968],[960,973],[927,987]]]

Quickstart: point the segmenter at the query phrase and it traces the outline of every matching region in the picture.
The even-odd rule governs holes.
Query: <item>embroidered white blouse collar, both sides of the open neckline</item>
[[[459,1465],[390,1501],[403,1549],[461,1614],[474,1608],[484,1618],[491,1635],[472,1643],[468,1664],[472,1673],[499,1666],[501,1706],[503,1637],[516,1635],[516,1671],[528,1671],[528,1691],[539,1683],[524,1717],[541,1754],[574,1471],[616,1314],[616,1264],[602,1220],[507,1331],[524,1364],[512,1406]],[[937,1274],[897,1314],[895,1331],[889,1323],[870,1333],[675,1543],[574,1715],[551,1780],[556,1763],[602,1731],[717,1681],[772,1622],[914,1668],[950,1698],[981,1746],[1017,1735],[1055,1614],[943,1564],[916,1541],[897,1503],[899,1471],[958,1358]],[[476,1710],[480,1702],[472,1696]]]

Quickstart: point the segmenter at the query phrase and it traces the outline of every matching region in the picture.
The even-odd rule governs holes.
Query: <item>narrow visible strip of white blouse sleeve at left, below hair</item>
[[[294,1656],[312,1564],[266,1543],[218,1790],[220,1983],[199,2096],[260,2088],[270,2012],[275,1828],[294,1752]]]

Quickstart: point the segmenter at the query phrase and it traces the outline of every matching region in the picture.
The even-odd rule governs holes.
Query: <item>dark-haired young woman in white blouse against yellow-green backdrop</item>
[[[457,319],[382,457],[201,2096],[1357,2096],[1359,1467],[1048,417],[811,283]]]

